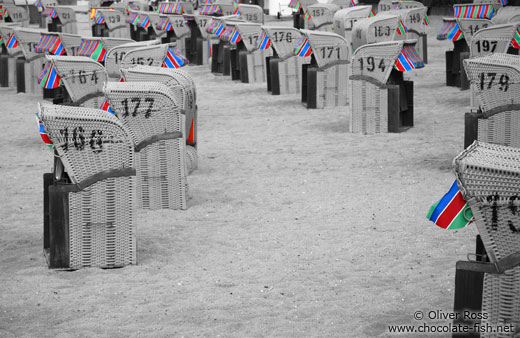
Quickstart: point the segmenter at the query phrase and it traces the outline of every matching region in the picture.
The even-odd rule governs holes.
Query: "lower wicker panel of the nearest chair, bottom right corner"
[[[513,268],[501,275],[484,275],[482,290],[482,313],[488,315],[481,325],[491,327],[520,325],[520,267]],[[498,330],[497,330],[498,331]],[[512,332],[484,332],[482,338],[510,338]]]

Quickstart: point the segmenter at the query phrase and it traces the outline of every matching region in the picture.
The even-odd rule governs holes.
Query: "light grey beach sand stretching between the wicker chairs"
[[[189,209],[138,211],[138,265],[121,269],[47,268],[41,98],[0,89],[0,337],[386,337],[415,311],[451,311],[476,230],[425,219],[453,183],[469,109],[468,91],[445,86],[440,21],[430,63],[406,74],[415,126],[401,134],[351,134],[345,107],[307,110],[186,67],[199,106]]]

